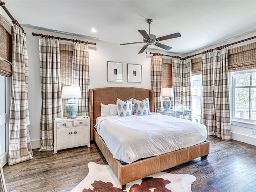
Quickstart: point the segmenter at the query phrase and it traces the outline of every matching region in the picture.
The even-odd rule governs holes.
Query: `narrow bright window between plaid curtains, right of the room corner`
[[[191,95],[193,116],[200,118],[201,115],[201,99],[202,99],[202,76],[192,75],[191,78]]]

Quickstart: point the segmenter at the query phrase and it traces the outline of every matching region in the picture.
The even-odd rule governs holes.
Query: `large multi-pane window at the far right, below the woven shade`
[[[256,122],[256,70],[232,72],[232,119]]]

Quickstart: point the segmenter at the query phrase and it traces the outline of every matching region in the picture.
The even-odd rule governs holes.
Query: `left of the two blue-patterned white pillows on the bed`
[[[118,116],[130,116],[132,115],[132,99],[127,101],[122,101],[120,99],[116,99],[116,114]]]

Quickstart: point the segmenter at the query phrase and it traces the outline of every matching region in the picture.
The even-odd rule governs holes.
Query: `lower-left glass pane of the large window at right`
[[[249,119],[249,88],[235,89],[235,117]]]

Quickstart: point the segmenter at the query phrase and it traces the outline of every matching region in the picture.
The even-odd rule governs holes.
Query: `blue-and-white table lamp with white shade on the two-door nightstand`
[[[62,87],[62,99],[70,99],[68,100],[68,104],[66,104],[65,106],[68,119],[76,118],[76,114],[78,111],[78,104],[75,100],[76,98],[82,98],[80,86]]]

